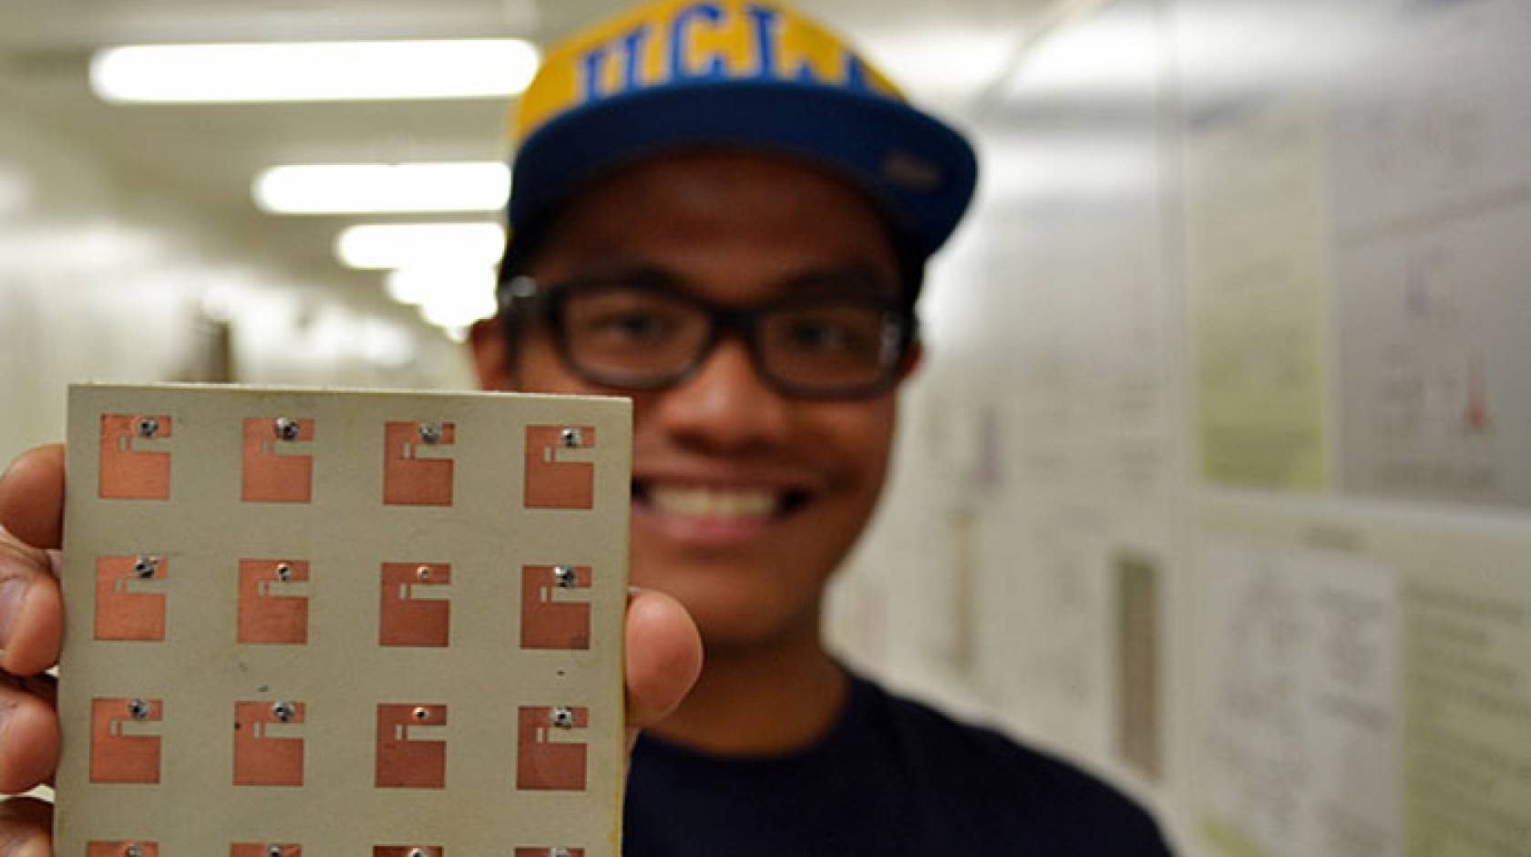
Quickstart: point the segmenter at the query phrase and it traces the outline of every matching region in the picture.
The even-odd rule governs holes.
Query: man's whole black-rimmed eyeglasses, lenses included
[[[732,334],[761,380],[785,396],[870,398],[899,381],[916,337],[908,308],[860,294],[808,292],[732,309],[645,277],[547,286],[516,277],[502,289],[507,318],[545,324],[574,373],[628,390],[684,381]]]

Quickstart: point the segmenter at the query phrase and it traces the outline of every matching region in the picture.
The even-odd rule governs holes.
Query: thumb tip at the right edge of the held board
[[[628,747],[680,705],[701,675],[701,635],[680,601],[638,592],[628,603]]]

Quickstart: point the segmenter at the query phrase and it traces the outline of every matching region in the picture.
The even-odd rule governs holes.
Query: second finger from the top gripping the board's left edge
[[[47,551],[0,530],[0,669],[37,675],[58,663],[64,603]]]

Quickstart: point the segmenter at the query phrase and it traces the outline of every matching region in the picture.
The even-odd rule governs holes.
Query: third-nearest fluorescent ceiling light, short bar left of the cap
[[[335,256],[351,268],[491,266],[504,249],[499,223],[364,225],[335,239]]]

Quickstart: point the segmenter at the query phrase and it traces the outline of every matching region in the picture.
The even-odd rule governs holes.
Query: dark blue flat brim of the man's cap
[[[537,129],[516,153],[511,228],[605,170],[713,145],[802,158],[845,176],[925,256],[957,228],[978,171],[961,135],[890,98],[769,80],[697,81],[611,96]]]

